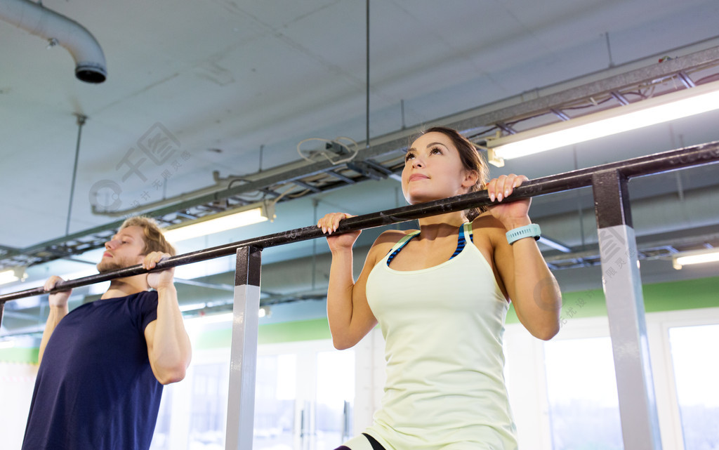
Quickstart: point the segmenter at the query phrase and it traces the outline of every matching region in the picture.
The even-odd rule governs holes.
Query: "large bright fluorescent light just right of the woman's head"
[[[502,165],[503,160],[533,155],[715,109],[719,109],[719,81],[587,114],[547,127],[498,139],[487,139],[490,162]]]

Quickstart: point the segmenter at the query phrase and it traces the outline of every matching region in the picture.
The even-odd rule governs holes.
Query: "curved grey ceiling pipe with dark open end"
[[[44,38],[50,46],[65,47],[75,59],[75,77],[86,83],[107,78],[105,55],[81,24],[28,0],[0,1],[0,19]]]

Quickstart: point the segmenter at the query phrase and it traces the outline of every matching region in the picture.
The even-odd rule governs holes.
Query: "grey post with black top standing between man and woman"
[[[260,321],[260,262],[257,247],[237,249],[232,309],[226,450],[252,450],[257,373],[257,327]]]

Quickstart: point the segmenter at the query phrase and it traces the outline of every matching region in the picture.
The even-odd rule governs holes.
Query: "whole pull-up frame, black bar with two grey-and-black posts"
[[[670,152],[637,157],[623,162],[536,178],[516,188],[508,201],[592,186],[599,233],[610,337],[614,354],[617,391],[624,448],[660,450],[659,419],[654,382],[649,362],[641,293],[636,239],[631,227],[628,180],[643,175],[719,162],[719,142],[701,144]],[[337,232],[374,228],[403,221],[490,205],[485,191],[395,208],[344,219]],[[252,449],[252,422],[255,408],[257,364],[257,310],[260,308],[260,257],[262,249],[323,237],[316,226],[247,239],[232,244],[181,254],[157,264],[155,270],[237,254],[232,321],[229,400],[227,405],[226,450]],[[623,258],[617,264],[617,254]],[[148,272],[141,265],[58,283],[55,290],[67,290],[119,277]],[[55,291],[53,290],[53,292]],[[0,295],[2,309],[8,300],[44,294],[42,288]]]

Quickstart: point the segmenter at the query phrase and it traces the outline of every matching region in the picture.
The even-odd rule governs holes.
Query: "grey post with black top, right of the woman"
[[[595,173],[592,190],[624,449],[661,450],[627,178]]]

